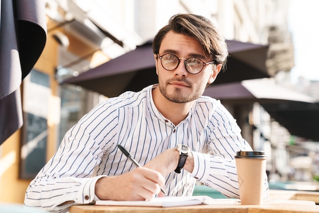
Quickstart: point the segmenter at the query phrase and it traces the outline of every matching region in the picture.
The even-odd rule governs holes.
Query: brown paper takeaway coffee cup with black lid
[[[263,151],[238,151],[235,155],[240,199],[243,205],[261,205],[266,174]]]

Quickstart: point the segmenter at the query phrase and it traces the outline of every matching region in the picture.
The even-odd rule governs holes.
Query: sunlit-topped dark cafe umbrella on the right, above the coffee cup
[[[232,105],[236,119],[243,106],[258,102],[269,115],[284,126],[291,135],[319,141],[319,103],[313,97],[280,86],[273,78],[250,79],[241,82],[212,85],[203,95]]]

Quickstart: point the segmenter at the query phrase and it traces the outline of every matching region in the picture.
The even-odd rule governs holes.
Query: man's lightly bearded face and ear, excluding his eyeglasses
[[[168,32],[159,48],[159,56],[174,54],[178,58],[198,58],[204,63],[211,59],[205,54],[203,46],[193,37]],[[154,55],[156,61],[156,55]],[[184,66],[184,59],[176,69],[168,71],[163,68],[161,60],[156,61],[159,90],[168,100],[175,103],[187,103],[199,98],[207,85],[216,79],[221,65],[205,65],[197,74],[189,73]]]

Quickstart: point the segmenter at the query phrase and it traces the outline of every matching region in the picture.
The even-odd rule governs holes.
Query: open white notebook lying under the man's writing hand
[[[148,201],[114,201],[114,200],[97,200],[95,205],[115,205],[115,206],[187,206],[187,205],[202,205],[202,204],[229,204],[240,202],[240,199],[214,199],[209,196],[185,196],[185,197],[161,197],[154,198]]]

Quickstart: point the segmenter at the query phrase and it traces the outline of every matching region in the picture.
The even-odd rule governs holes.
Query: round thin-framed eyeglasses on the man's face
[[[161,59],[161,64],[164,69],[168,71],[172,71],[178,67],[180,59],[184,59],[185,69],[191,74],[197,74],[202,71],[203,67],[207,64],[215,63],[215,61],[204,63],[200,59],[197,58],[178,58],[173,54],[164,54],[163,56],[159,56],[158,58]]]

